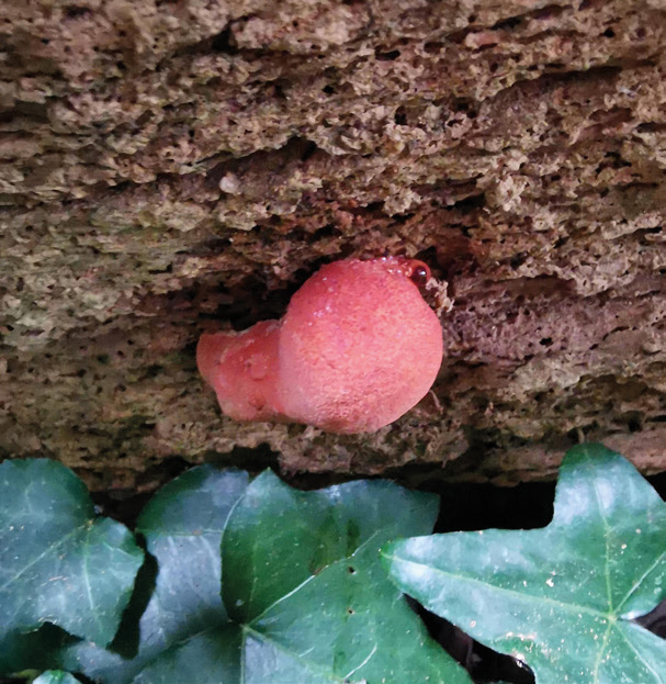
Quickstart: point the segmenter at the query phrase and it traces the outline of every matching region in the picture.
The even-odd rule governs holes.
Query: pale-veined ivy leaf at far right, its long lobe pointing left
[[[538,684],[666,684],[666,641],[632,621],[666,595],[666,505],[600,445],[568,452],[548,527],[417,537],[384,553],[399,587]]]

